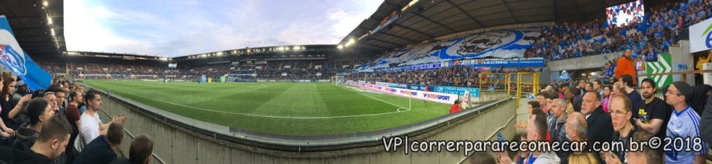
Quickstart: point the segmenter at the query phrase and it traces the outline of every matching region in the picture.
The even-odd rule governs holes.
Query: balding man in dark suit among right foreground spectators
[[[589,145],[595,141],[610,141],[613,136],[611,115],[601,106],[601,97],[596,92],[586,92],[582,98],[581,113],[586,117]]]

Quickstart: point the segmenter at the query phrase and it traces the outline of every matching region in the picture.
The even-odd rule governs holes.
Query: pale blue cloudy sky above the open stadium
[[[337,44],[383,0],[65,0],[67,50],[182,56]]]

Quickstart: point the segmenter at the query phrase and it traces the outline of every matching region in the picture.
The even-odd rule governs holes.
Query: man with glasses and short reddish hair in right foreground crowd
[[[618,95],[611,99],[611,109],[609,109],[609,111],[611,111],[611,122],[613,124],[613,129],[615,130],[615,132],[613,132],[612,139],[622,141],[624,143],[624,147],[628,146],[629,140],[631,136],[633,136],[633,133],[638,131],[638,128],[633,126],[630,122],[630,118],[633,116],[633,113],[630,111],[630,106],[631,102],[628,97]],[[603,153],[601,157],[606,160],[606,163],[616,163],[617,160],[620,161],[620,163],[625,163],[626,152],[617,151]]]

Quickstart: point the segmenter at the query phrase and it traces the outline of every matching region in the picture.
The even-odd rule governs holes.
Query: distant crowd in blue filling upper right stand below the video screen
[[[668,52],[672,44],[687,37],[689,26],[711,16],[710,1],[702,0],[654,7],[646,11],[643,21],[628,26],[607,25],[605,18],[546,26],[525,56],[562,60],[632,50],[634,58],[656,60],[656,54]]]

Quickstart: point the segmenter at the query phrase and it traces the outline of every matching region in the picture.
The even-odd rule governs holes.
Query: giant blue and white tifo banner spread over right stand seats
[[[540,35],[540,28],[520,28],[435,40],[395,50],[355,70],[365,72],[393,65],[403,67],[475,58],[523,58],[527,48],[531,48]]]

